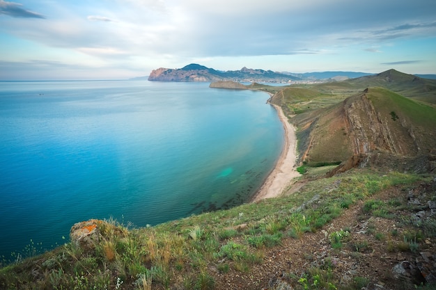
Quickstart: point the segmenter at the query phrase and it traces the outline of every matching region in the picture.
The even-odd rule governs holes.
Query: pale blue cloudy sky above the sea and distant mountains
[[[0,0],[0,80],[159,67],[436,74],[435,0]]]

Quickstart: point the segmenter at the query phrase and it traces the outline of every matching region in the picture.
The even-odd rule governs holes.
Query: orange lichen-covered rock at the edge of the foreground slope
[[[102,220],[87,220],[71,227],[70,240],[84,250],[93,250],[100,241]]]

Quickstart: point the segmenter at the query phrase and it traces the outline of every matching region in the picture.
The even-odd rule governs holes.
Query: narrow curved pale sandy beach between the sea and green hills
[[[270,97],[272,94],[268,92]],[[268,100],[267,104],[273,106],[279,115],[280,122],[283,124],[285,131],[285,143],[283,150],[275,164],[274,168],[268,175],[262,186],[256,191],[250,202],[259,202],[266,198],[277,198],[282,195],[283,190],[290,184],[293,178],[298,177],[299,173],[295,167],[297,159],[297,138],[295,136],[295,127],[288,122],[288,118],[283,113],[283,110]]]

